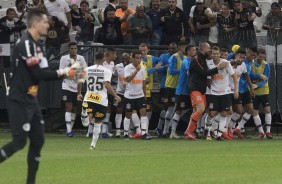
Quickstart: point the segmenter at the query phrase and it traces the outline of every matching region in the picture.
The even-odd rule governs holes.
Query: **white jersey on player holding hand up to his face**
[[[133,64],[129,64],[124,68],[124,77],[132,75],[136,71]],[[145,80],[145,68],[141,65],[141,69],[135,77],[126,84],[124,97],[128,99],[136,99],[144,97],[143,81]]]

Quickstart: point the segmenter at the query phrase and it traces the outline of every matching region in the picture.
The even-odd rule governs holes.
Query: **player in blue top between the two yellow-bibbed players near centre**
[[[170,43],[168,46],[168,52],[162,54],[159,57],[160,62],[162,63],[162,67],[158,70],[159,74],[161,75],[161,84],[160,84],[160,100],[161,103],[163,104],[163,110],[161,111],[159,122],[158,122],[158,127],[155,130],[155,132],[158,134],[158,136],[161,136],[163,134],[162,129],[163,129],[163,124],[165,122],[165,115],[167,111],[167,103],[164,103],[164,98],[165,98],[165,81],[166,81],[166,74],[167,74],[167,67],[168,67],[168,60],[169,58],[177,52],[177,44],[176,43]]]

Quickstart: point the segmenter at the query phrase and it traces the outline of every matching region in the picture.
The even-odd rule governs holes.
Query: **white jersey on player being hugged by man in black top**
[[[218,70],[218,73],[211,76],[211,95],[226,95],[230,94],[231,88],[229,85],[229,76],[233,75],[235,72],[229,63],[229,61],[225,59],[220,59],[219,63],[228,62],[228,67],[223,70]],[[209,69],[217,67],[215,64],[208,65]]]

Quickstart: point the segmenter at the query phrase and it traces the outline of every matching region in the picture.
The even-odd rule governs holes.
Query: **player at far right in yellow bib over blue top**
[[[269,64],[265,61],[265,50],[258,49],[258,57],[252,64],[252,72],[254,74],[263,74],[268,79],[270,77],[270,67]],[[265,126],[266,126],[266,137],[272,139],[270,132],[271,128],[271,111],[269,103],[269,86],[268,81],[266,80],[253,80],[252,86],[255,89],[255,97],[253,99],[254,112],[253,118],[258,119],[259,117],[259,106],[263,106],[263,111],[265,114]]]

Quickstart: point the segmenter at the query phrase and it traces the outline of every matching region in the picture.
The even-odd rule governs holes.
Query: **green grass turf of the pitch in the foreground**
[[[0,134],[0,145],[10,134]],[[38,184],[282,183],[282,138],[243,141],[90,139],[46,134]],[[23,184],[26,152],[0,164],[1,184]]]

